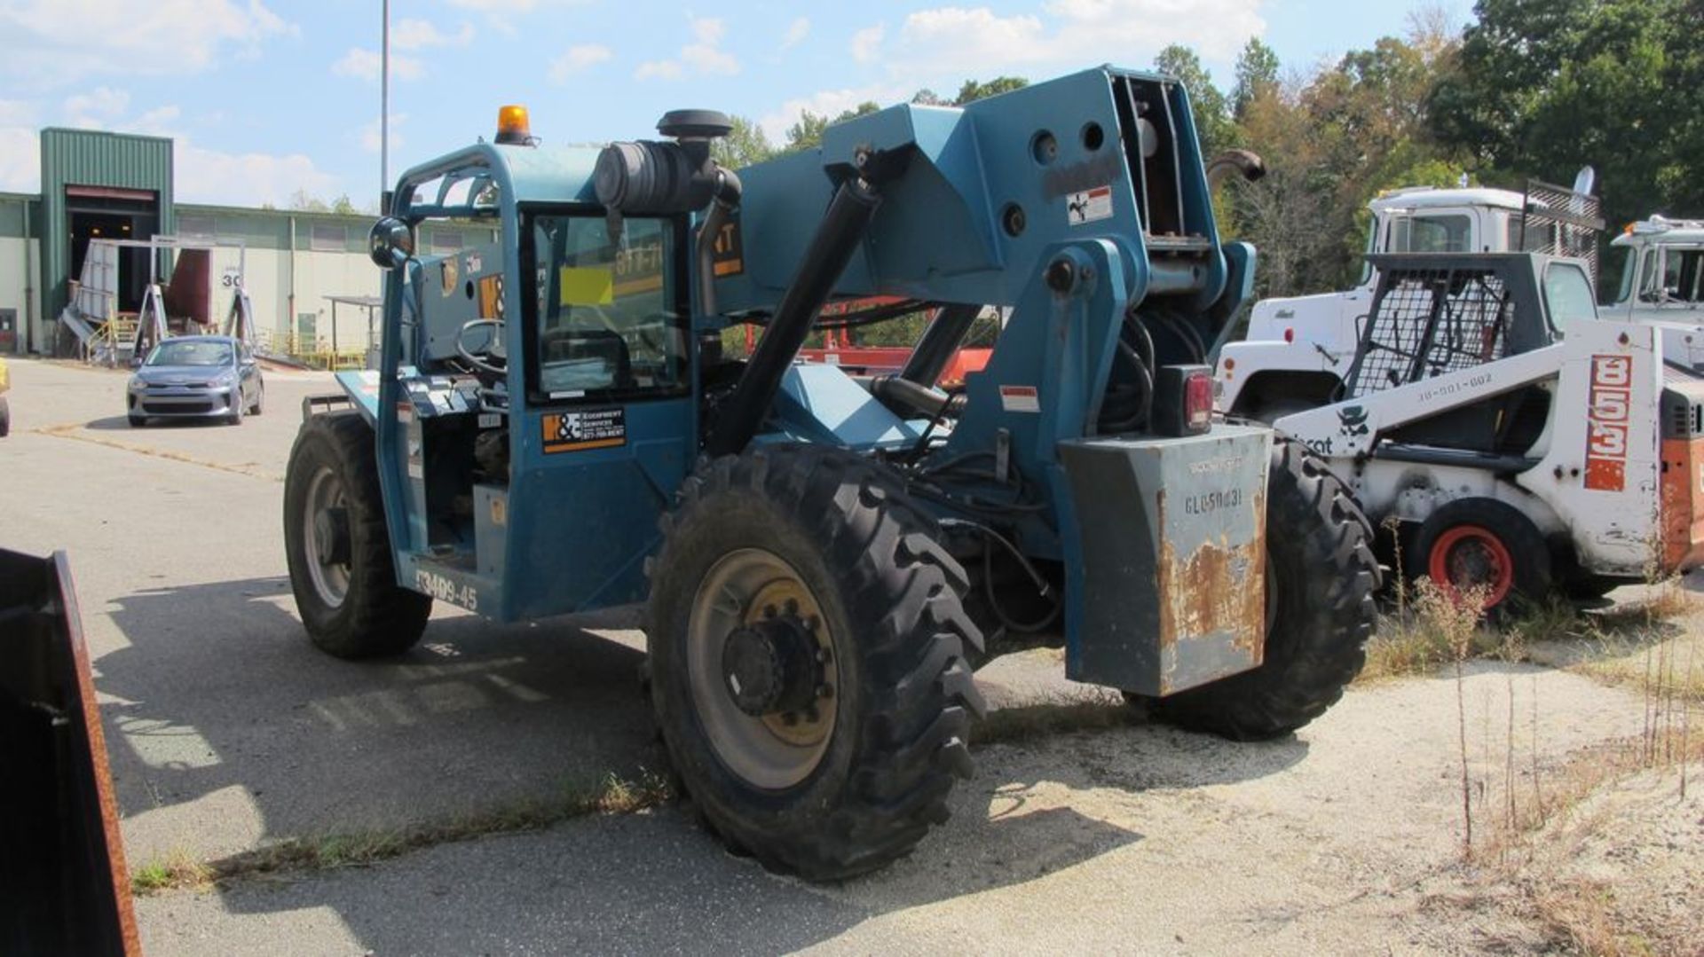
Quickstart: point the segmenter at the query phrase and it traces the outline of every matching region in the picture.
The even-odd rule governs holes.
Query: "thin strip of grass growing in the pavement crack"
[[[303,838],[286,838],[250,851],[213,862],[172,855],[131,872],[131,892],[157,894],[176,889],[210,889],[244,879],[339,867],[368,867],[411,851],[470,841],[491,834],[538,831],[590,814],[634,814],[673,797],[661,775],[641,771],[636,780],[605,775],[602,780],[569,787],[556,800],[523,800],[448,821],[394,829],[363,829]]]

